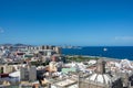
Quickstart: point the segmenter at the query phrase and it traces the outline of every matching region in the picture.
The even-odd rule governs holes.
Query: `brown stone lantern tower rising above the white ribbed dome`
[[[98,74],[105,74],[105,62],[101,58],[98,59],[96,73]]]

